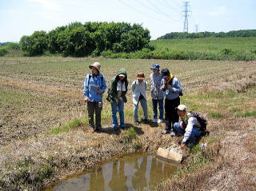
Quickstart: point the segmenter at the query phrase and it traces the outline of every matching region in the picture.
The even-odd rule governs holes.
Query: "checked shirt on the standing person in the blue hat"
[[[163,91],[161,90],[162,74],[150,74],[150,86],[152,99],[163,99]]]

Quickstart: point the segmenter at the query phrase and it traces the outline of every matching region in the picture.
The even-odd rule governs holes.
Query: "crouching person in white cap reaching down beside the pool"
[[[201,136],[202,132],[198,130],[201,128],[201,124],[197,117],[193,117],[191,113],[186,111],[186,105],[178,105],[177,113],[179,120],[174,123],[173,129],[175,135],[184,135],[181,148],[185,149],[186,144],[194,143]]]

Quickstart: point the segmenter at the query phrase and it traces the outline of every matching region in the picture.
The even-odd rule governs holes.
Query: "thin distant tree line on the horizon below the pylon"
[[[182,39],[182,38],[237,38],[256,37],[256,30],[232,30],[230,32],[200,32],[200,33],[179,33],[165,34],[158,39]]]

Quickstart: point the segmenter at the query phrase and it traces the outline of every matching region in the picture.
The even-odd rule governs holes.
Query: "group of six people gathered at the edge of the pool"
[[[84,81],[84,101],[87,102],[89,125],[92,131],[100,131],[101,113],[102,113],[102,95],[106,91],[106,79],[100,73],[101,65],[94,62],[90,66],[91,73],[86,75]],[[190,113],[186,111],[186,105],[180,105],[180,96],[182,96],[182,85],[174,74],[168,69],[162,69],[158,64],[150,67],[150,94],[153,105],[154,118],[152,122],[162,123],[165,121],[166,129],[162,134],[170,133],[171,136],[184,135],[182,146],[186,143],[195,141],[201,132],[195,128],[198,124],[196,117],[189,117]],[[137,74],[137,79],[132,82],[131,90],[133,93],[134,104],[134,123],[139,125],[138,104],[142,105],[143,119],[147,123],[147,99],[146,90],[148,83],[145,81],[143,73]],[[111,80],[110,88],[107,91],[106,100],[110,102],[112,109],[112,125],[115,130],[118,127],[125,128],[124,105],[127,101],[126,93],[128,91],[127,72],[125,69],[119,70],[118,74]],[[159,117],[158,117],[159,110]],[[165,111],[165,118],[164,118]],[[119,125],[118,117],[119,113]],[[94,123],[94,114],[96,120]]]

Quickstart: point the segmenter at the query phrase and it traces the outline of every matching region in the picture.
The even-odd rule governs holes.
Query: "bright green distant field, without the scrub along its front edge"
[[[156,50],[219,52],[229,48],[236,52],[255,52],[256,38],[193,38],[161,39],[150,42]]]

